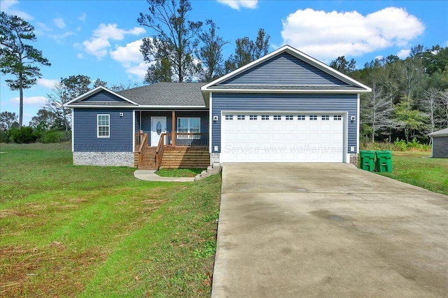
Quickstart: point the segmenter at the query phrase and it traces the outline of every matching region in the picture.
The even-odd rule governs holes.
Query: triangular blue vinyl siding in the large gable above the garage
[[[349,85],[283,52],[220,85]]]

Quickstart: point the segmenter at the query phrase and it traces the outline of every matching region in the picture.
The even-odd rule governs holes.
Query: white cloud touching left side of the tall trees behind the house
[[[120,62],[126,69],[126,73],[130,73],[138,78],[144,78],[148,70],[148,63],[144,62],[143,55],[140,52],[141,39],[127,43],[124,47],[116,46],[116,50],[110,50],[111,58]]]

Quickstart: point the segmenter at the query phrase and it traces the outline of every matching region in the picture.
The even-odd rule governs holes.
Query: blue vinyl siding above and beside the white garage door
[[[237,94],[214,93],[210,117],[218,116],[212,123],[211,148],[218,146],[221,152],[221,111],[337,111],[348,112],[348,118],[357,116],[356,94]],[[356,152],[356,127],[358,120],[348,122],[347,152]],[[350,146],[355,150],[350,151]]]

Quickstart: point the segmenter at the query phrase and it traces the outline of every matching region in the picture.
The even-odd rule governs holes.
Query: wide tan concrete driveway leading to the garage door
[[[351,164],[225,164],[212,297],[448,297],[448,197]]]

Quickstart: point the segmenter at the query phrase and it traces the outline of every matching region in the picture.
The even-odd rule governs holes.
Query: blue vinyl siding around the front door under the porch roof
[[[137,113],[138,114],[138,113]],[[151,117],[166,117],[167,132],[172,132],[172,112],[142,111],[141,129],[148,134],[148,143],[151,144]],[[209,111],[176,111],[178,117],[199,117],[201,118],[201,134],[209,133]],[[177,121],[177,120],[176,120]],[[176,122],[177,125],[177,122]],[[139,129],[137,129],[137,132]]]

